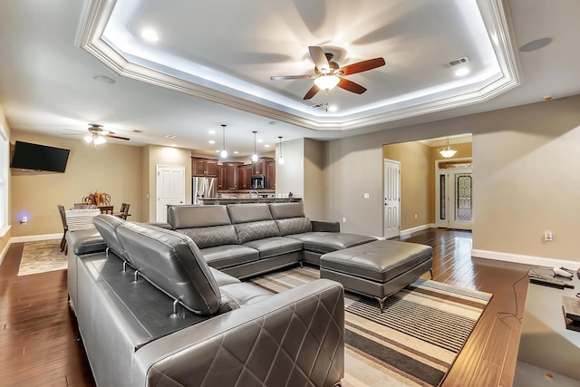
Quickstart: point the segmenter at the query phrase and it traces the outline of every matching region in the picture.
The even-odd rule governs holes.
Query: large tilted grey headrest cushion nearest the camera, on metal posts
[[[191,238],[132,222],[117,227],[117,235],[133,266],[151,284],[194,313],[218,313],[218,284]]]

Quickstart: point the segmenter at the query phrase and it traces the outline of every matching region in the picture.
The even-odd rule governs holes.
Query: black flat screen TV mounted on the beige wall
[[[71,150],[16,141],[10,168],[64,172]]]

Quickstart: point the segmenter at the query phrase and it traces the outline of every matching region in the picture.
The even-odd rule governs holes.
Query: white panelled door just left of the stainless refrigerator
[[[185,167],[156,166],[156,221],[167,222],[167,206],[185,203]]]

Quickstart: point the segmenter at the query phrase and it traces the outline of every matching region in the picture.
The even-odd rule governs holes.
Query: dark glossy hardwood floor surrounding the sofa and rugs
[[[472,258],[468,231],[432,228],[401,240],[433,247],[434,280],[494,295],[443,386],[511,385],[529,266]],[[0,266],[0,385],[93,386],[66,271],[17,276],[23,246],[13,244]]]

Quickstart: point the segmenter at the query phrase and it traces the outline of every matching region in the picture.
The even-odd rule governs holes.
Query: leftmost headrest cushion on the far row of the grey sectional
[[[172,229],[230,225],[226,206],[169,206]]]

